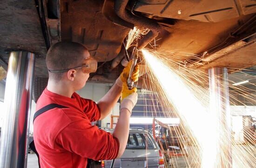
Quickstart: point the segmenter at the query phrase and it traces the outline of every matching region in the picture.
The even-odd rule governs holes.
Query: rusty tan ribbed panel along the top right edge
[[[252,0],[138,0],[135,11],[147,13],[150,18],[220,22],[256,12]]]

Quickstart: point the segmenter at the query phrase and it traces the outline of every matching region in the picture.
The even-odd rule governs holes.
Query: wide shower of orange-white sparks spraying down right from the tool
[[[208,74],[202,70],[188,68],[186,63],[189,61],[182,61],[198,60],[200,56],[178,51],[151,50],[142,50],[142,54],[148,67],[147,76],[144,77],[145,86],[158,94],[166,117],[176,115],[181,118],[182,124],[174,128],[174,131],[178,135],[185,134],[189,137],[180,139],[182,146],[193,146],[181,149],[187,154],[185,160],[188,167],[229,168],[233,164],[233,167],[249,168],[254,165],[256,158],[253,146],[237,146],[232,141],[232,162],[222,148],[230,138],[226,137],[228,134],[225,130],[220,129],[223,123],[216,116],[214,108],[210,108]],[[229,83],[229,87],[236,93],[255,103],[255,95],[250,94],[248,88],[232,86],[232,82]],[[232,96],[230,100],[230,104],[238,101]],[[251,134],[249,136],[250,139],[254,138]],[[162,144],[161,148],[166,145]]]

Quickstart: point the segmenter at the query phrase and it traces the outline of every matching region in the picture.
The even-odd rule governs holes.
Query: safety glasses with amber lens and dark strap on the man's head
[[[70,69],[78,69],[81,68],[82,72],[85,74],[93,73],[96,72],[97,70],[97,60],[95,60],[93,57],[89,56],[87,59],[84,61],[84,65],[80,67],[74,67],[74,68],[68,68],[68,69],[59,69],[59,70],[51,70],[48,69],[49,72],[57,74],[57,73],[62,73],[69,71]]]

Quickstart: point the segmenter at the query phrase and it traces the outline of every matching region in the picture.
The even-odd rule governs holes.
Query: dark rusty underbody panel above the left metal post
[[[34,0],[0,1],[0,58],[8,62],[11,50],[35,53],[35,75],[46,76],[47,48]]]

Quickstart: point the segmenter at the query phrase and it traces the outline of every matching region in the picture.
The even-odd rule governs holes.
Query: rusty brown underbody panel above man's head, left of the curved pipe
[[[99,62],[114,59],[130,29],[102,13],[104,0],[62,0],[61,39],[84,44]]]

